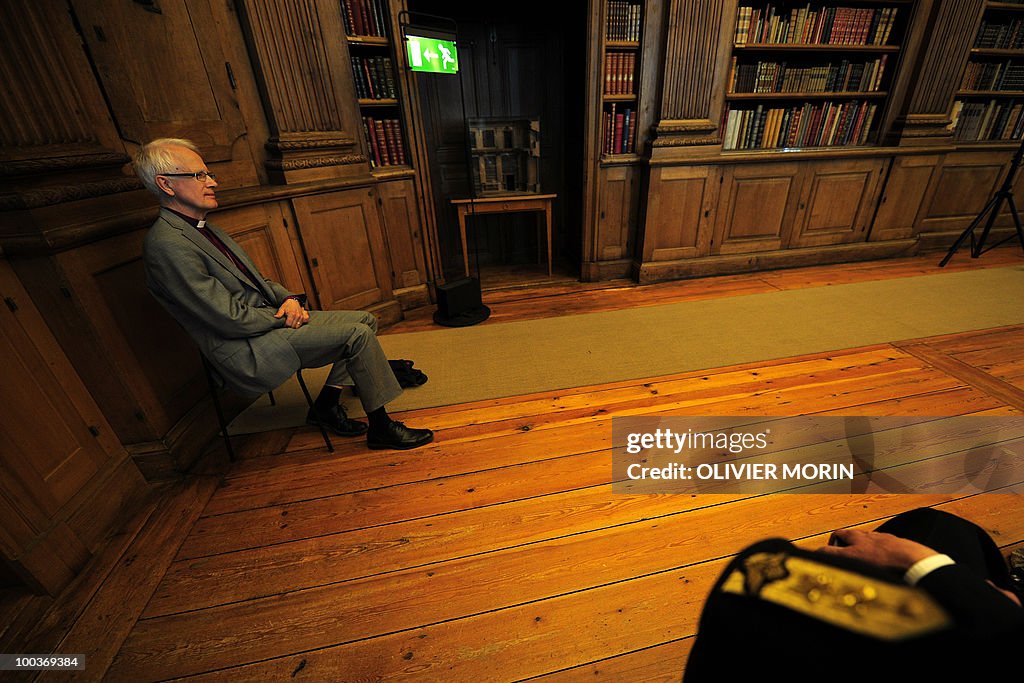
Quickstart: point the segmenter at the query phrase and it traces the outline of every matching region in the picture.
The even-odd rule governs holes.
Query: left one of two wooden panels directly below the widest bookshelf
[[[711,252],[771,251],[786,245],[802,190],[800,172],[796,163],[727,167]]]

